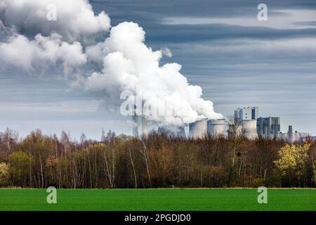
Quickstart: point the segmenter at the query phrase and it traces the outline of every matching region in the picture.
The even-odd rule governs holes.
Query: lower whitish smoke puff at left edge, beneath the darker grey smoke
[[[56,63],[61,63],[69,71],[86,63],[81,44],[77,41],[73,44],[60,41],[58,34],[49,37],[37,34],[32,41],[21,34],[10,37],[6,43],[0,43],[0,58],[2,63],[22,68],[25,72],[34,72],[47,64]]]

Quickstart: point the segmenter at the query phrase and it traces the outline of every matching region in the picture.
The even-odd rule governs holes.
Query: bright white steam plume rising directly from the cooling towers
[[[173,111],[171,115],[146,115],[147,120],[166,126],[181,126],[205,117],[222,117],[214,112],[211,101],[202,99],[200,86],[188,84],[180,73],[181,65],[167,63],[160,66],[163,52],[152,51],[144,41],[145,32],[136,23],[125,22],[112,27],[109,38],[89,48],[91,60],[103,59],[103,69],[84,79],[82,83],[86,89],[100,96],[137,91],[136,94],[140,94],[152,108]]]

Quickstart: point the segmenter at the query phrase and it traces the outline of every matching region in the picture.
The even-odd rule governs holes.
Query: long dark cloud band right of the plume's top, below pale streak
[[[212,39],[282,39],[315,36],[316,29],[272,29],[232,25],[147,25],[147,41],[158,43],[200,42]]]

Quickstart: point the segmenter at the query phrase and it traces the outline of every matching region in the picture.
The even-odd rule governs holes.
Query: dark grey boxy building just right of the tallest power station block
[[[257,119],[258,136],[265,139],[277,139],[281,132],[280,117],[259,117]]]

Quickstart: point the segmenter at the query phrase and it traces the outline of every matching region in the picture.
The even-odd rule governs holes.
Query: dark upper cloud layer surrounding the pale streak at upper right
[[[276,39],[310,37],[316,29],[273,29],[240,25],[162,25],[166,17],[256,17],[261,1],[91,1],[97,11],[107,11],[112,24],[122,21],[139,23],[146,31],[150,44],[208,41],[210,39]],[[316,1],[265,1],[270,10],[305,8],[316,10]],[[271,15],[273,13],[271,12]],[[282,15],[282,12],[278,12]],[[286,18],[284,18],[286,20]],[[315,25],[314,21],[296,25]]]

